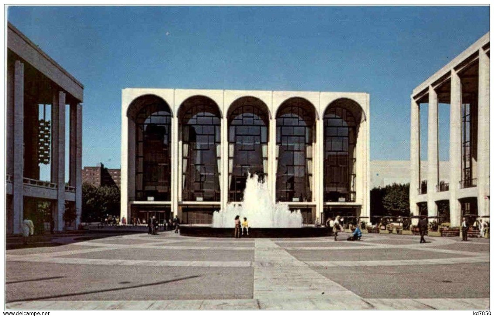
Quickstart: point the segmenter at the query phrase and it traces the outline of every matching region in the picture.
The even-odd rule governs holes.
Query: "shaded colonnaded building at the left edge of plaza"
[[[26,217],[42,225],[51,216],[54,230],[62,231],[66,210],[76,211],[72,226],[77,227],[82,204],[83,86],[10,23],[6,68],[6,233],[20,234]],[[49,166],[49,181],[40,179],[42,164]],[[41,202],[48,202],[51,214],[40,216]]]

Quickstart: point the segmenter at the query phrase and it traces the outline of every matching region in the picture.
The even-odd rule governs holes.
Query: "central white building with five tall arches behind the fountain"
[[[304,222],[369,216],[369,94],[124,89],[121,216],[210,224],[247,174]]]

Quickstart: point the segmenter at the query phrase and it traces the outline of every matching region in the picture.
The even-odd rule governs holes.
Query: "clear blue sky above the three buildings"
[[[120,168],[127,87],[368,92],[371,160],[408,160],[412,89],[489,31],[488,6],[14,6],[7,12],[9,22],[84,84],[82,165],[109,168]],[[448,160],[448,106],[439,115],[440,159]]]

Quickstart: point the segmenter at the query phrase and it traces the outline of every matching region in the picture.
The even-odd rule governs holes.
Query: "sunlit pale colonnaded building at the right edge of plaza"
[[[490,215],[490,33],[456,56],[412,92],[410,210],[449,217]],[[438,105],[450,108],[449,180],[440,181]],[[427,106],[427,127],[419,124]],[[420,133],[427,128],[427,174],[421,176]],[[438,208],[439,205],[448,208]],[[439,214],[438,210],[449,212]],[[449,216],[448,216],[449,215]]]

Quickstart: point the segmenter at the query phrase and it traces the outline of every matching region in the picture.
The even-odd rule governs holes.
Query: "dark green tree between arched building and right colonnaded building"
[[[382,206],[388,216],[410,216],[410,184],[387,185]]]

